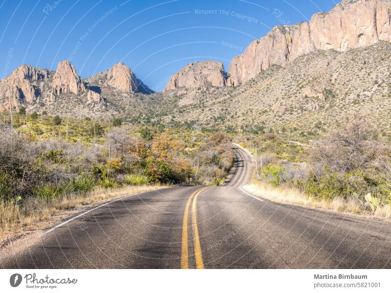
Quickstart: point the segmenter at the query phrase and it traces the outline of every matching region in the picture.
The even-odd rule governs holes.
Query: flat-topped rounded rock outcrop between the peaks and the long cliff
[[[180,87],[224,87],[226,86],[226,82],[226,74],[221,62],[195,62],[190,63],[175,73],[169,80],[164,91],[175,90]]]

